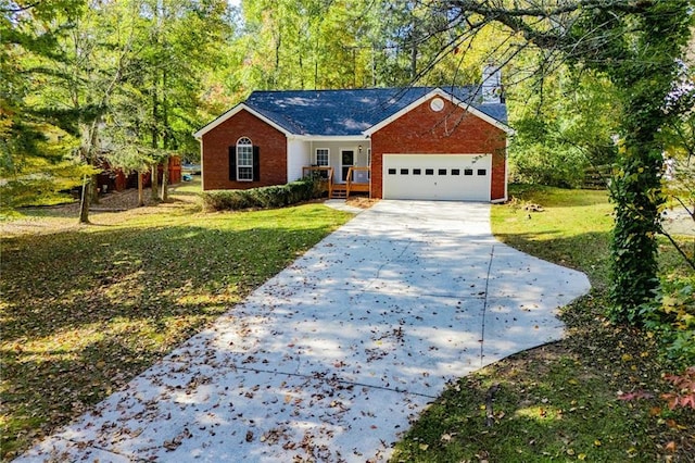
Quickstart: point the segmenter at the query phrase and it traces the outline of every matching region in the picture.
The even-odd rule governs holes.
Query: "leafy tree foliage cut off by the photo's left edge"
[[[92,170],[74,154],[78,139],[31,102],[42,63],[65,61],[58,43],[67,34],[58,13],[76,15],[83,2],[47,1],[0,7],[0,207],[50,200]],[[65,17],[65,16],[64,16]]]

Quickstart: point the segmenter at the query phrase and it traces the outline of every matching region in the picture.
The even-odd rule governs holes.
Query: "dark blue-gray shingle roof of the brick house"
[[[437,87],[254,91],[244,102],[295,135],[350,136],[397,113]],[[477,86],[443,91],[507,124],[504,103],[482,103]]]

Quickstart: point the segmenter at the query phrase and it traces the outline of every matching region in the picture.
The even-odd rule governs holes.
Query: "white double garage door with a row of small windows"
[[[490,201],[490,154],[384,154],[383,198]]]

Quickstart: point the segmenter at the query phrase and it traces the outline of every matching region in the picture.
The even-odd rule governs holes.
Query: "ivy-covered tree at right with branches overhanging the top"
[[[606,75],[623,115],[619,124],[612,237],[615,318],[640,323],[637,308],[657,286],[656,235],[660,229],[661,143],[659,130],[675,114],[665,111],[690,37],[692,0],[447,0],[422,1],[447,11],[446,27],[475,36],[497,23],[513,48],[541,50],[554,60]],[[448,47],[451,49],[451,47]]]

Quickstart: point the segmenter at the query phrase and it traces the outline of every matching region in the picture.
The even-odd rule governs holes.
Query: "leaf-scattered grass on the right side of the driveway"
[[[392,461],[695,461],[695,413],[671,411],[660,397],[672,386],[657,339],[604,317],[612,221],[606,193],[514,193],[492,210],[497,238],[585,272],[594,290],[565,309],[564,341],[462,378],[415,423]],[[661,272],[686,276],[672,248],[660,248]]]

